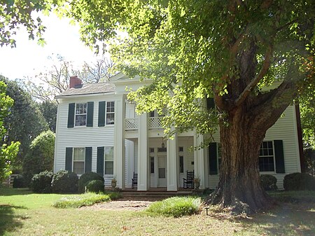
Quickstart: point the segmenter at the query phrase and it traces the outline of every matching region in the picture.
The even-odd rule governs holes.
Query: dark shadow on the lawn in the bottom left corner
[[[15,228],[22,227],[22,221],[27,219],[25,216],[15,214],[14,209],[27,209],[9,204],[0,204],[0,235],[4,232],[12,232]]]

